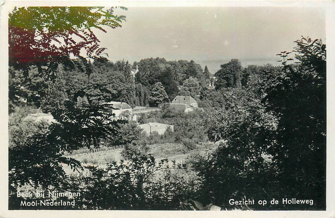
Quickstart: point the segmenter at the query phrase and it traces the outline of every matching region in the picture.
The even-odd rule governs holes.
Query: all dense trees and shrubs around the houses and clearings
[[[205,209],[201,203],[236,209],[228,204],[231,198],[315,202],[249,207],[256,210],[325,209],[326,46],[321,40],[297,40],[298,63],[290,64],[290,52],[284,51],[278,54],[281,67],[243,68],[232,59],[215,73],[211,90],[208,68],[203,71],[192,60],[143,59],[133,64],[134,74],[127,61],[99,57],[104,48],[92,28],[121,27],[124,16],[114,15],[114,9],[28,7],[10,13],[10,208],[27,209],[18,206],[15,193],[28,187],[80,192],[76,206],[66,209]],[[94,62],[82,58],[81,49]],[[199,96],[202,108],[173,110],[168,102],[178,94]],[[174,130],[146,135],[127,113],[111,120],[101,106],[108,101],[159,106],[138,122]],[[57,122],[24,119],[41,111]],[[175,143],[190,152],[206,141],[219,146],[180,164],[147,154],[152,144]],[[83,166],[65,155],[101,145],[124,146],[121,154],[129,161]],[[65,165],[78,173],[69,175]]]

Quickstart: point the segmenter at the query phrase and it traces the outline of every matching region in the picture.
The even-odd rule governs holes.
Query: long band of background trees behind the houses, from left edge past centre
[[[184,68],[197,66],[197,71],[184,71],[178,65],[180,62],[185,65]],[[131,70],[135,64],[139,66],[139,71],[133,78]],[[172,100],[179,93],[196,96],[201,86],[206,87],[209,80],[200,65],[193,61],[167,62],[165,59],[149,58],[135,62],[134,65],[127,61],[113,63],[106,58],[99,58],[93,63],[67,60],[48,63],[47,66],[41,63],[11,66],[10,105],[25,99],[27,103],[56,116],[73,107],[78,97],[86,97],[91,104],[114,100],[127,102],[131,106],[157,106]],[[196,76],[193,78],[191,75]],[[184,83],[185,86],[181,91],[176,82],[179,77],[184,79],[178,80],[179,84]]]

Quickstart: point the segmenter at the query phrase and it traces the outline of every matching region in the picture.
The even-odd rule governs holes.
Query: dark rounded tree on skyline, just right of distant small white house
[[[240,88],[241,85],[242,65],[238,59],[231,59],[226,64],[221,65],[221,69],[215,73],[215,89],[221,88]]]

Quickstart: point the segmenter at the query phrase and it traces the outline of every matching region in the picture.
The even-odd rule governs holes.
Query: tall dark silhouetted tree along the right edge
[[[325,208],[326,46],[306,38],[296,43],[300,63],[283,66],[265,98],[268,110],[279,117],[269,153],[284,185],[294,194],[313,196]]]

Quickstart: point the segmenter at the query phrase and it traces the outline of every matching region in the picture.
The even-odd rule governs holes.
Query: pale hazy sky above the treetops
[[[109,59],[194,60],[210,73],[237,58],[279,65],[276,54],[292,51],[301,36],[325,43],[325,12],[316,7],[130,7],[121,28],[97,31]]]

